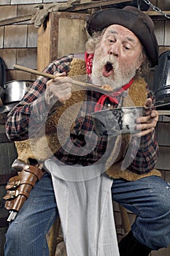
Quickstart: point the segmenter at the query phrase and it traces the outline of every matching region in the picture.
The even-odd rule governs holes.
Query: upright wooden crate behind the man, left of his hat
[[[51,61],[69,53],[85,51],[88,39],[85,21],[88,14],[51,12],[47,24],[38,31],[37,69],[44,69]]]

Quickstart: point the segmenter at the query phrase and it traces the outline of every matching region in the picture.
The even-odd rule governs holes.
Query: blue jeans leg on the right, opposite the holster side
[[[136,214],[134,236],[153,250],[170,244],[170,184],[158,176],[137,181],[115,180],[112,197]]]

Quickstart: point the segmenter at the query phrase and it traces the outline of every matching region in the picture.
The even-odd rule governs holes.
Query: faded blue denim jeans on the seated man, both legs
[[[170,186],[156,176],[138,181],[114,180],[113,200],[137,215],[134,236],[151,249],[170,244]],[[46,234],[58,210],[50,174],[36,183],[18,216],[9,226],[5,256],[49,255]]]

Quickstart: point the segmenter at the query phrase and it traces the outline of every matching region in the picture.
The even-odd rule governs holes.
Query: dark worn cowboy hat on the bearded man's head
[[[92,36],[93,32],[102,31],[112,24],[131,30],[142,43],[152,67],[158,64],[158,42],[154,33],[154,23],[147,14],[131,6],[99,10],[90,15],[86,29]]]

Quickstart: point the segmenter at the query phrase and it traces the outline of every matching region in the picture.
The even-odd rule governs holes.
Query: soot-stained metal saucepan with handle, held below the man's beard
[[[157,108],[169,103],[162,103],[151,108]],[[144,111],[151,108],[127,107],[96,111],[91,113],[95,132],[100,137],[117,136],[124,134],[135,134],[140,132],[136,130],[136,118],[144,116]]]

